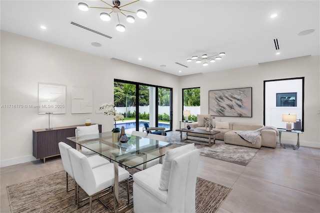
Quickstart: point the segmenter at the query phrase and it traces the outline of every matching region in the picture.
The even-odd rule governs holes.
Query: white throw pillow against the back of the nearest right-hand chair
[[[186,145],[181,145],[177,148],[169,149],[168,151],[165,152],[165,155],[163,157],[162,167],[161,167],[161,173],[160,173],[159,189],[161,190],[168,189],[172,159],[174,157],[177,157],[193,149],[194,149],[194,143],[190,143]]]

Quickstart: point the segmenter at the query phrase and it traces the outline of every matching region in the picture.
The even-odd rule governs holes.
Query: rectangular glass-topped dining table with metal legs
[[[114,167],[114,212],[123,210],[127,205],[119,207],[119,181],[118,166],[133,168],[142,165],[145,168],[148,161],[159,158],[167,149],[176,147],[176,144],[126,134],[129,138],[126,142],[112,142],[112,132],[101,132],[78,137],[67,137],[76,144],[76,149],[85,147],[113,162]]]

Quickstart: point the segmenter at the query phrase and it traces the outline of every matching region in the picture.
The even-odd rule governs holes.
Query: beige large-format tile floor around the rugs
[[[63,170],[61,159],[0,168],[0,212],[10,212],[6,185]],[[247,166],[200,156],[198,176],[232,188],[218,213],[320,212],[320,149],[262,147]]]

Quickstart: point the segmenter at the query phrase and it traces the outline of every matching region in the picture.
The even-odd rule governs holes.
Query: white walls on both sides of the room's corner
[[[71,114],[71,87],[91,87],[93,108],[113,101],[113,79],[166,87],[173,86],[173,129],[181,119],[181,89],[200,87],[201,113],[208,112],[208,90],[252,86],[252,117],[222,117],[222,120],[263,123],[263,80],[305,77],[302,145],[320,147],[319,56],[305,56],[224,71],[178,77],[117,59],[107,59],[47,42],[1,31],[1,104],[37,104],[38,82],[66,85],[66,113],[52,115],[53,126],[101,123],[112,129],[111,116]],[[199,67],[199,69],[201,69]],[[152,76],[150,78],[149,76]],[[158,79],[161,79],[159,84]],[[47,116],[37,108],[0,109],[1,166],[33,160],[32,129],[47,127]],[[285,137],[284,134],[282,137]],[[295,138],[289,138],[294,140]]]

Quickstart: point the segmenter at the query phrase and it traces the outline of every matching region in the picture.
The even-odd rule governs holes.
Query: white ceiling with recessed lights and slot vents
[[[112,4],[112,0],[104,1]],[[107,6],[100,0],[1,0],[1,30],[175,75],[319,55],[319,0],[140,0],[122,9],[141,8],[148,17],[140,19],[133,14],[135,23],[127,23],[120,14],[125,32],[115,30],[114,13],[110,21],[100,20],[100,12],[110,10],[90,8],[84,12],[77,8],[78,2]],[[121,0],[121,5],[128,2],[132,0]],[[272,13],[277,16],[270,18]],[[74,26],[71,21],[112,38]],[[41,24],[47,29],[41,29]],[[306,29],[314,32],[298,35]],[[279,43],[278,55],[274,38]],[[218,52],[226,54],[208,66],[186,61],[192,55]]]

